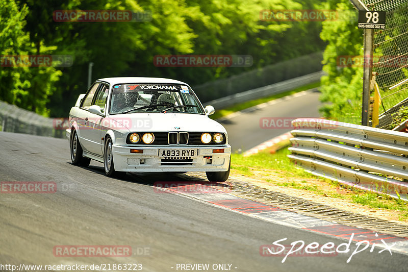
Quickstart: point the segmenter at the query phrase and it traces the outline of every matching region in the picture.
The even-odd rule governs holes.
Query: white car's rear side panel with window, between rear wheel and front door
[[[82,100],[81,106],[80,106],[80,111],[78,113],[78,137],[80,138],[80,142],[81,142],[81,146],[83,148],[84,151],[86,152],[91,152],[92,150],[92,129],[93,126],[90,125],[90,117],[91,115],[95,115],[95,114],[91,114],[89,113],[89,107],[92,105],[94,98],[95,98],[95,94],[97,92],[97,90],[100,88],[101,84],[100,82],[95,82],[92,87],[88,90],[88,92],[86,93],[84,99]]]

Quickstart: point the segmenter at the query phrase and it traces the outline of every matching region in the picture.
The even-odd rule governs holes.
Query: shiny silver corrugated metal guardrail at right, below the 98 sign
[[[313,175],[408,201],[408,134],[325,119],[292,121],[288,155]]]

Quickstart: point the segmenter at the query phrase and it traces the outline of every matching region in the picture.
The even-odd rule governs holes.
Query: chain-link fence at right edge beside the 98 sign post
[[[386,11],[386,29],[374,32],[373,72],[380,89],[379,128],[390,129],[401,107],[408,106],[408,3],[363,0],[369,10]],[[402,108],[403,109],[403,108]]]

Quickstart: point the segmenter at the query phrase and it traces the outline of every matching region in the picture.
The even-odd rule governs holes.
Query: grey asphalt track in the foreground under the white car
[[[289,257],[284,263],[283,257],[261,256],[261,245],[285,237],[288,244],[344,240],[158,192],[153,186],[189,181],[188,175],[112,179],[105,177],[100,163],[73,166],[65,139],[1,132],[0,151],[0,181],[57,183],[55,193],[0,193],[1,264],[142,263],[142,271],[182,271],[177,263],[232,264],[233,271],[250,272],[407,270],[407,257],[398,252],[366,250],[349,263],[350,253]],[[55,257],[56,245],[130,245],[133,256]]]

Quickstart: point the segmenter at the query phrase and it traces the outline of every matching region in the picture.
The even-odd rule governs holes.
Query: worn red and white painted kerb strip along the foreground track
[[[219,187],[220,185],[219,183],[214,184],[216,184],[217,187]],[[263,219],[277,225],[295,229],[302,229],[309,232],[319,233],[325,236],[335,236],[342,240],[349,240],[350,236],[353,235],[352,241],[354,242],[366,240],[369,241],[370,244],[375,243],[379,248],[385,248],[386,246],[379,243],[381,240],[384,240],[388,244],[392,244],[393,251],[408,254],[407,237],[399,237],[369,229],[346,226],[337,224],[336,222],[298,214],[281,208],[273,207],[262,202],[244,199],[226,191],[218,190],[211,184],[190,182],[175,185],[176,186],[161,188],[161,190],[167,190],[169,193],[182,194],[192,199],[245,214],[247,216]]]

